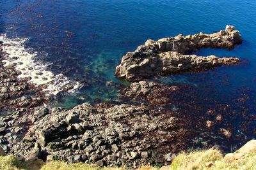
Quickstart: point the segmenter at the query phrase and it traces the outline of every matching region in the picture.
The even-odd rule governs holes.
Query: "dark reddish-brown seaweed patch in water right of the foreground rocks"
[[[225,83],[227,82],[220,85]],[[174,85],[177,85],[177,90],[169,90],[168,86],[163,85],[144,99],[153,112],[159,109],[166,117],[172,115],[179,118],[177,138],[168,139],[166,143],[156,143],[156,148],[161,152],[218,146],[228,153],[234,152],[248,139],[256,137],[255,104],[246,104],[248,101],[256,102],[252,89],[237,90],[239,93],[230,94],[234,96],[232,101],[221,102],[218,99],[219,92],[214,87],[201,89],[184,83]],[[205,96],[205,93],[210,92],[212,97]],[[145,102],[140,97],[132,99],[134,100],[138,103]],[[211,127],[207,127],[207,121],[212,122]],[[232,136],[227,138],[221,129],[228,129]],[[147,136],[150,140],[150,136],[156,134],[148,132]]]

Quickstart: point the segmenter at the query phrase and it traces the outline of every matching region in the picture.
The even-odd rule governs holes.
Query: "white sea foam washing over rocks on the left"
[[[31,78],[29,83],[44,87],[43,91],[47,96],[56,95],[67,87],[72,87],[68,92],[74,93],[82,87],[81,83],[68,80],[63,74],[47,71],[47,66],[50,63],[36,61],[35,57],[38,53],[24,46],[27,40],[28,38],[11,39],[7,38],[5,34],[0,35],[0,41],[3,41],[3,52],[7,53],[3,57],[4,66],[15,64],[15,69],[21,72],[18,78]]]

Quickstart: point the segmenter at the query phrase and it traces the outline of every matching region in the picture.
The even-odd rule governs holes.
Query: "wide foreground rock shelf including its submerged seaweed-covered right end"
[[[177,153],[189,148],[218,145],[230,152],[230,145],[241,146],[247,139],[236,132],[237,124],[227,120],[230,113],[232,117],[241,113],[225,104],[216,110],[201,106],[192,95],[198,90],[191,85],[139,81],[122,90],[122,103],[84,103],[71,110],[33,108],[26,115],[28,131],[21,128],[22,117],[14,112],[0,119],[0,146],[23,160],[38,157],[129,169],[170,164]],[[220,113],[221,120],[216,120]],[[243,119],[253,117],[244,113]],[[207,122],[213,125],[208,127]]]

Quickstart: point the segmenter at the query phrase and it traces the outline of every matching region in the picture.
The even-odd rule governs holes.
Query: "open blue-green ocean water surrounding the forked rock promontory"
[[[256,1],[252,0],[0,0],[0,34],[28,39],[24,48],[36,53],[34,64],[46,64],[53,76],[63,75],[83,87],[59,94],[54,106],[71,108],[85,101],[118,100],[115,78],[122,55],[147,39],[177,34],[217,32],[227,24],[241,32],[243,44],[234,50],[202,49],[198,55],[236,56],[237,66],[201,73],[173,74],[155,81],[188,83],[200,89],[196,99],[207,108],[216,103],[232,110],[255,113],[256,99]],[[114,81],[116,86],[106,86]],[[209,99],[205,102],[204,99]],[[237,106],[237,100],[243,99]],[[186,100],[182,101],[186,102]],[[179,110],[178,106],[173,106]],[[255,113],[256,114],[256,113]],[[241,122],[236,118],[234,122]],[[255,122],[252,124],[255,125]],[[237,129],[239,131],[239,129]],[[255,134],[249,134],[255,138]]]

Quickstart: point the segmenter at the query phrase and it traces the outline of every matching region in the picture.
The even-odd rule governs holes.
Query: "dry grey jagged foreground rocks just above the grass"
[[[140,81],[124,89],[124,93],[125,96],[144,97],[177,90],[176,87],[166,88],[158,83]],[[38,157],[46,157],[46,160],[54,157],[100,166],[131,167],[134,162],[147,164],[148,159],[159,162],[154,152],[166,145],[167,139],[177,136],[179,118],[173,114],[164,115],[158,107],[152,110],[151,105],[84,103],[72,110],[41,108],[31,115],[34,124],[23,140],[13,146],[12,153],[25,159],[41,153]],[[152,134],[158,135],[152,138]],[[36,145],[40,146],[40,152],[36,152]],[[161,163],[168,161],[161,159]]]

